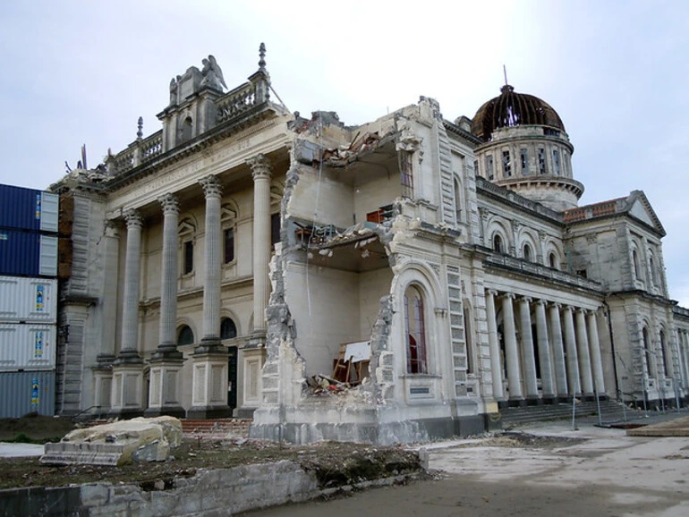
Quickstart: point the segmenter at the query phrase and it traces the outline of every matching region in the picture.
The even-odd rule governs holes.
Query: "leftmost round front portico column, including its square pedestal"
[[[143,413],[143,360],[139,355],[139,284],[141,227],[137,210],[124,213],[127,250],[124,259],[122,345],[113,363],[110,416],[131,418]]]

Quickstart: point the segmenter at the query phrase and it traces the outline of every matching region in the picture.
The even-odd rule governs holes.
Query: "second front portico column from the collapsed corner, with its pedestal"
[[[227,406],[227,349],[220,341],[220,267],[222,228],[217,177],[200,180],[206,196],[205,266],[203,285],[203,337],[192,356],[191,408],[188,419],[231,416]]]

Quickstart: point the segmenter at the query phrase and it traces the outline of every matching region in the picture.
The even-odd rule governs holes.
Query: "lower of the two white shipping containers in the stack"
[[[55,369],[55,325],[0,323],[0,371]]]

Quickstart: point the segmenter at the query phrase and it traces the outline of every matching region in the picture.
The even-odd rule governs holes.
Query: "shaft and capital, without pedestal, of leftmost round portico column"
[[[127,251],[124,259],[122,347],[118,358],[139,359],[139,284],[141,266],[141,216],[137,210],[124,214]]]

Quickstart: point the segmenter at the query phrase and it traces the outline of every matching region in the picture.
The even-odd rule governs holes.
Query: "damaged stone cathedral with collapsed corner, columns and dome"
[[[213,56],[162,130],[67,174],[57,412],[251,417],[251,436],[378,444],[512,407],[689,401],[642,191],[578,206],[557,112],[503,86],[358,126],[289,113]]]

